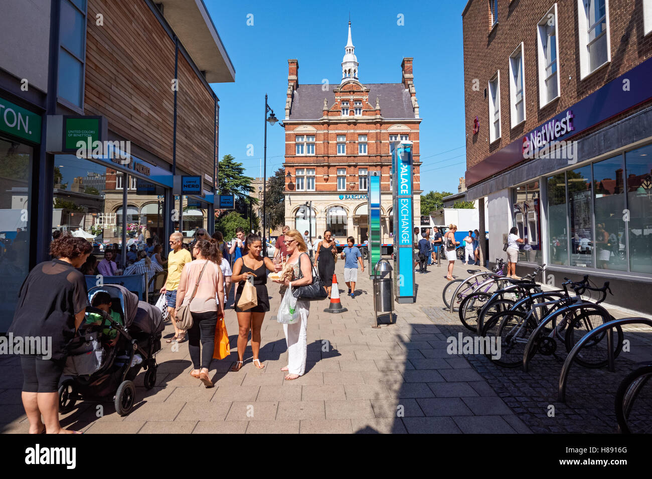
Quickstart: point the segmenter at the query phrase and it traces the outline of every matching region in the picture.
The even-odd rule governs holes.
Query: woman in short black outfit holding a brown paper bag
[[[233,276],[231,281],[239,283],[235,291],[235,312],[238,316],[238,361],[233,365],[231,371],[239,371],[243,367],[243,355],[246,349],[246,343],[249,339],[249,330],[251,330],[251,349],[254,353],[254,366],[259,370],[265,365],[261,364],[258,358],[260,349],[260,328],[263,326],[265,313],[269,311],[269,295],[267,295],[267,270],[280,271],[281,265],[274,265],[271,259],[265,257],[260,259],[260,252],[263,249],[263,243],[258,235],[248,235],[245,241],[246,254],[239,257],[233,263]],[[243,311],[238,308],[237,304],[242,295],[244,282],[248,276],[254,276],[254,287],[256,287],[256,297],[258,305],[250,310]]]

